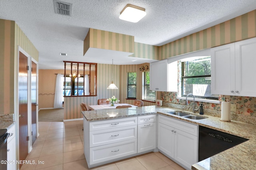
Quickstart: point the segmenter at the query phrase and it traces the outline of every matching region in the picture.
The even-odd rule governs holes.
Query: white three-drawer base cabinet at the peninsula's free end
[[[137,117],[88,122],[84,154],[89,168],[137,153]]]

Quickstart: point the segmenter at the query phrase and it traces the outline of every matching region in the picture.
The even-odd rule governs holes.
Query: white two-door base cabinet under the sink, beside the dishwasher
[[[158,149],[190,169],[198,162],[198,125],[158,115]]]

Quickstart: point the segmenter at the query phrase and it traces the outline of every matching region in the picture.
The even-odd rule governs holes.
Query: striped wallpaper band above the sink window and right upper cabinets
[[[159,47],[159,60],[256,36],[256,10]]]

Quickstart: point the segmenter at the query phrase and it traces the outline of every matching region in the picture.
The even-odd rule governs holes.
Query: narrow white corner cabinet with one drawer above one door
[[[152,150],[155,148],[156,115],[138,117],[138,153]]]

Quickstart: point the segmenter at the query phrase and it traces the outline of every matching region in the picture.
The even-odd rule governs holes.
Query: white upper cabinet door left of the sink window
[[[150,90],[167,91],[168,60],[150,63]]]

